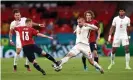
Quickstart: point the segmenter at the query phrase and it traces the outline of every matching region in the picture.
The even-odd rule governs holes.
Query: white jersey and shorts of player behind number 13
[[[14,29],[15,27],[20,27],[20,26],[26,26],[26,24],[25,24],[26,19],[27,18],[23,17],[23,18],[21,18],[21,20],[18,23],[15,20],[12,21],[10,24],[10,29]],[[21,45],[21,41],[20,41],[19,32],[17,32],[17,31],[15,31],[15,32],[16,32],[16,47],[21,48],[22,45]]]

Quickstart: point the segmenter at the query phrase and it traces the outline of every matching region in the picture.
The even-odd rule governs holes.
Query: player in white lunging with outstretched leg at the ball
[[[62,66],[66,63],[70,58],[78,55],[80,52],[89,60],[90,64],[95,68],[98,68],[101,73],[103,72],[102,67],[93,60],[90,46],[88,43],[88,33],[89,30],[98,29],[97,26],[85,23],[84,18],[78,18],[78,25],[74,32],[76,32],[76,45],[69,51],[69,53],[60,61],[58,61],[59,65]]]

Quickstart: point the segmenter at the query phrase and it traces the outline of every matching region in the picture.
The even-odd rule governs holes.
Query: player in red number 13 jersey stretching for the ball
[[[40,71],[43,75],[46,75],[45,71],[42,68],[40,68],[40,66],[37,64],[34,53],[45,56],[55,64],[58,64],[58,63],[52,56],[50,56],[49,54],[46,54],[45,51],[43,51],[40,47],[35,45],[35,42],[32,37],[40,36],[40,37],[49,38],[49,39],[53,39],[53,38],[46,36],[44,34],[41,34],[35,29],[33,29],[31,19],[26,19],[25,23],[26,23],[26,26],[15,27],[14,30],[17,31],[20,35],[20,40],[21,40],[21,44],[22,44],[22,48],[25,56],[28,58],[28,60],[33,64],[33,66],[38,71]]]

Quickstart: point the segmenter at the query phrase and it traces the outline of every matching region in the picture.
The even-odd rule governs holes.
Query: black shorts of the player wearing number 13
[[[34,53],[37,53],[38,55],[42,54],[42,49],[35,44],[23,46],[23,51],[30,62],[33,62],[35,60]]]

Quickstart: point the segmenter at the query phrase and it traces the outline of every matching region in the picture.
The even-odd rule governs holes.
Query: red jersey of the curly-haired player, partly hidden
[[[94,24],[95,26],[98,27],[98,22],[97,22],[97,20],[94,20],[94,19],[93,19],[92,21],[87,22],[87,23],[89,23],[89,24]],[[96,38],[97,38],[96,33],[97,33],[97,30],[90,30],[89,42],[96,42]]]

